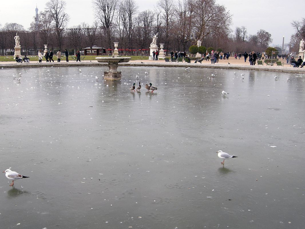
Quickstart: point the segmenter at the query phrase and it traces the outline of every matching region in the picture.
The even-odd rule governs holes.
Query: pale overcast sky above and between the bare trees
[[[158,0],[135,0],[139,10],[154,9]],[[38,12],[44,9],[46,0],[26,1],[1,1],[0,23],[17,22],[26,29],[35,15],[36,3]],[[236,26],[246,26],[250,34],[264,29],[271,33],[274,44],[282,45],[283,36],[285,43],[289,43],[290,36],[294,33],[291,27],[292,20],[299,20],[303,14],[305,2],[295,0],[216,0],[217,3],[225,5],[227,10],[233,14],[232,29]],[[91,24],[94,21],[91,0],[66,0],[66,11],[70,15],[68,26],[75,26],[86,22]],[[76,13],[78,12],[78,15]],[[225,19],[224,19],[225,20]]]

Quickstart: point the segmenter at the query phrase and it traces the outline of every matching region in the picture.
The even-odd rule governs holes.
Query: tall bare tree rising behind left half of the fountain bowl
[[[106,44],[111,48],[111,27],[117,8],[117,0],[92,0],[95,16],[99,19],[106,33]]]

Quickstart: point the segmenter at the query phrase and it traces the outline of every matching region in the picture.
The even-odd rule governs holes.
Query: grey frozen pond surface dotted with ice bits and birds
[[[304,228],[304,75],[78,69],[0,69],[1,228]]]

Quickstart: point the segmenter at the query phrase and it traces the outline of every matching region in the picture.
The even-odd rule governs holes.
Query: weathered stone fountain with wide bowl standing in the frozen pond
[[[131,57],[95,57],[100,63],[108,63],[109,71],[104,72],[104,79],[110,81],[120,80],[121,72],[117,71],[119,63],[128,62]]]

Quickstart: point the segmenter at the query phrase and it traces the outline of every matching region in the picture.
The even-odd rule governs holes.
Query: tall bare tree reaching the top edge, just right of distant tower
[[[62,49],[64,39],[64,29],[69,20],[66,10],[66,2],[63,0],[50,0],[47,2],[46,7],[50,10],[51,18],[54,23],[54,30],[56,35],[56,42],[59,49]]]

